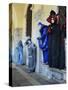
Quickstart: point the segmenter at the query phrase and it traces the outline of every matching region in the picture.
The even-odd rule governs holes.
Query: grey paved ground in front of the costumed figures
[[[28,73],[25,65],[12,66],[12,86],[33,86],[33,85],[50,85],[60,84],[55,80],[47,80],[37,73]]]

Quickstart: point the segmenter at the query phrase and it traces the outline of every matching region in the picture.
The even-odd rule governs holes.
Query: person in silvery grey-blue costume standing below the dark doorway
[[[37,48],[35,44],[32,43],[31,39],[28,39],[26,41],[26,45],[27,45],[28,72],[35,72]]]

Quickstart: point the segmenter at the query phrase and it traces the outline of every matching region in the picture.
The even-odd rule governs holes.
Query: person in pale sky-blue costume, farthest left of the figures
[[[20,40],[18,42],[17,47],[15,48],[15,59],[16,59],[16,64],[24,64],[23,62],[23,44],[22,41]]]

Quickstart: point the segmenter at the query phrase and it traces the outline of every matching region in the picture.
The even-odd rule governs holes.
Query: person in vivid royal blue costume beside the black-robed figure
[[[41,26],[40,28],[41,37],[37,39],[39,47],[43,52],[43,63],[48,64],[48,35],[47,35],[48,26],[42,24],[41,22],[39,22],[38,25]]]

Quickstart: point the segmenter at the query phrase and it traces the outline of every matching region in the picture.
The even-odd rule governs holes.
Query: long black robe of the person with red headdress
[[[57,24],[52,24],[51,33],[48,35],[48,63],[50,67],[59,68],[60,61],[60,28]]]

